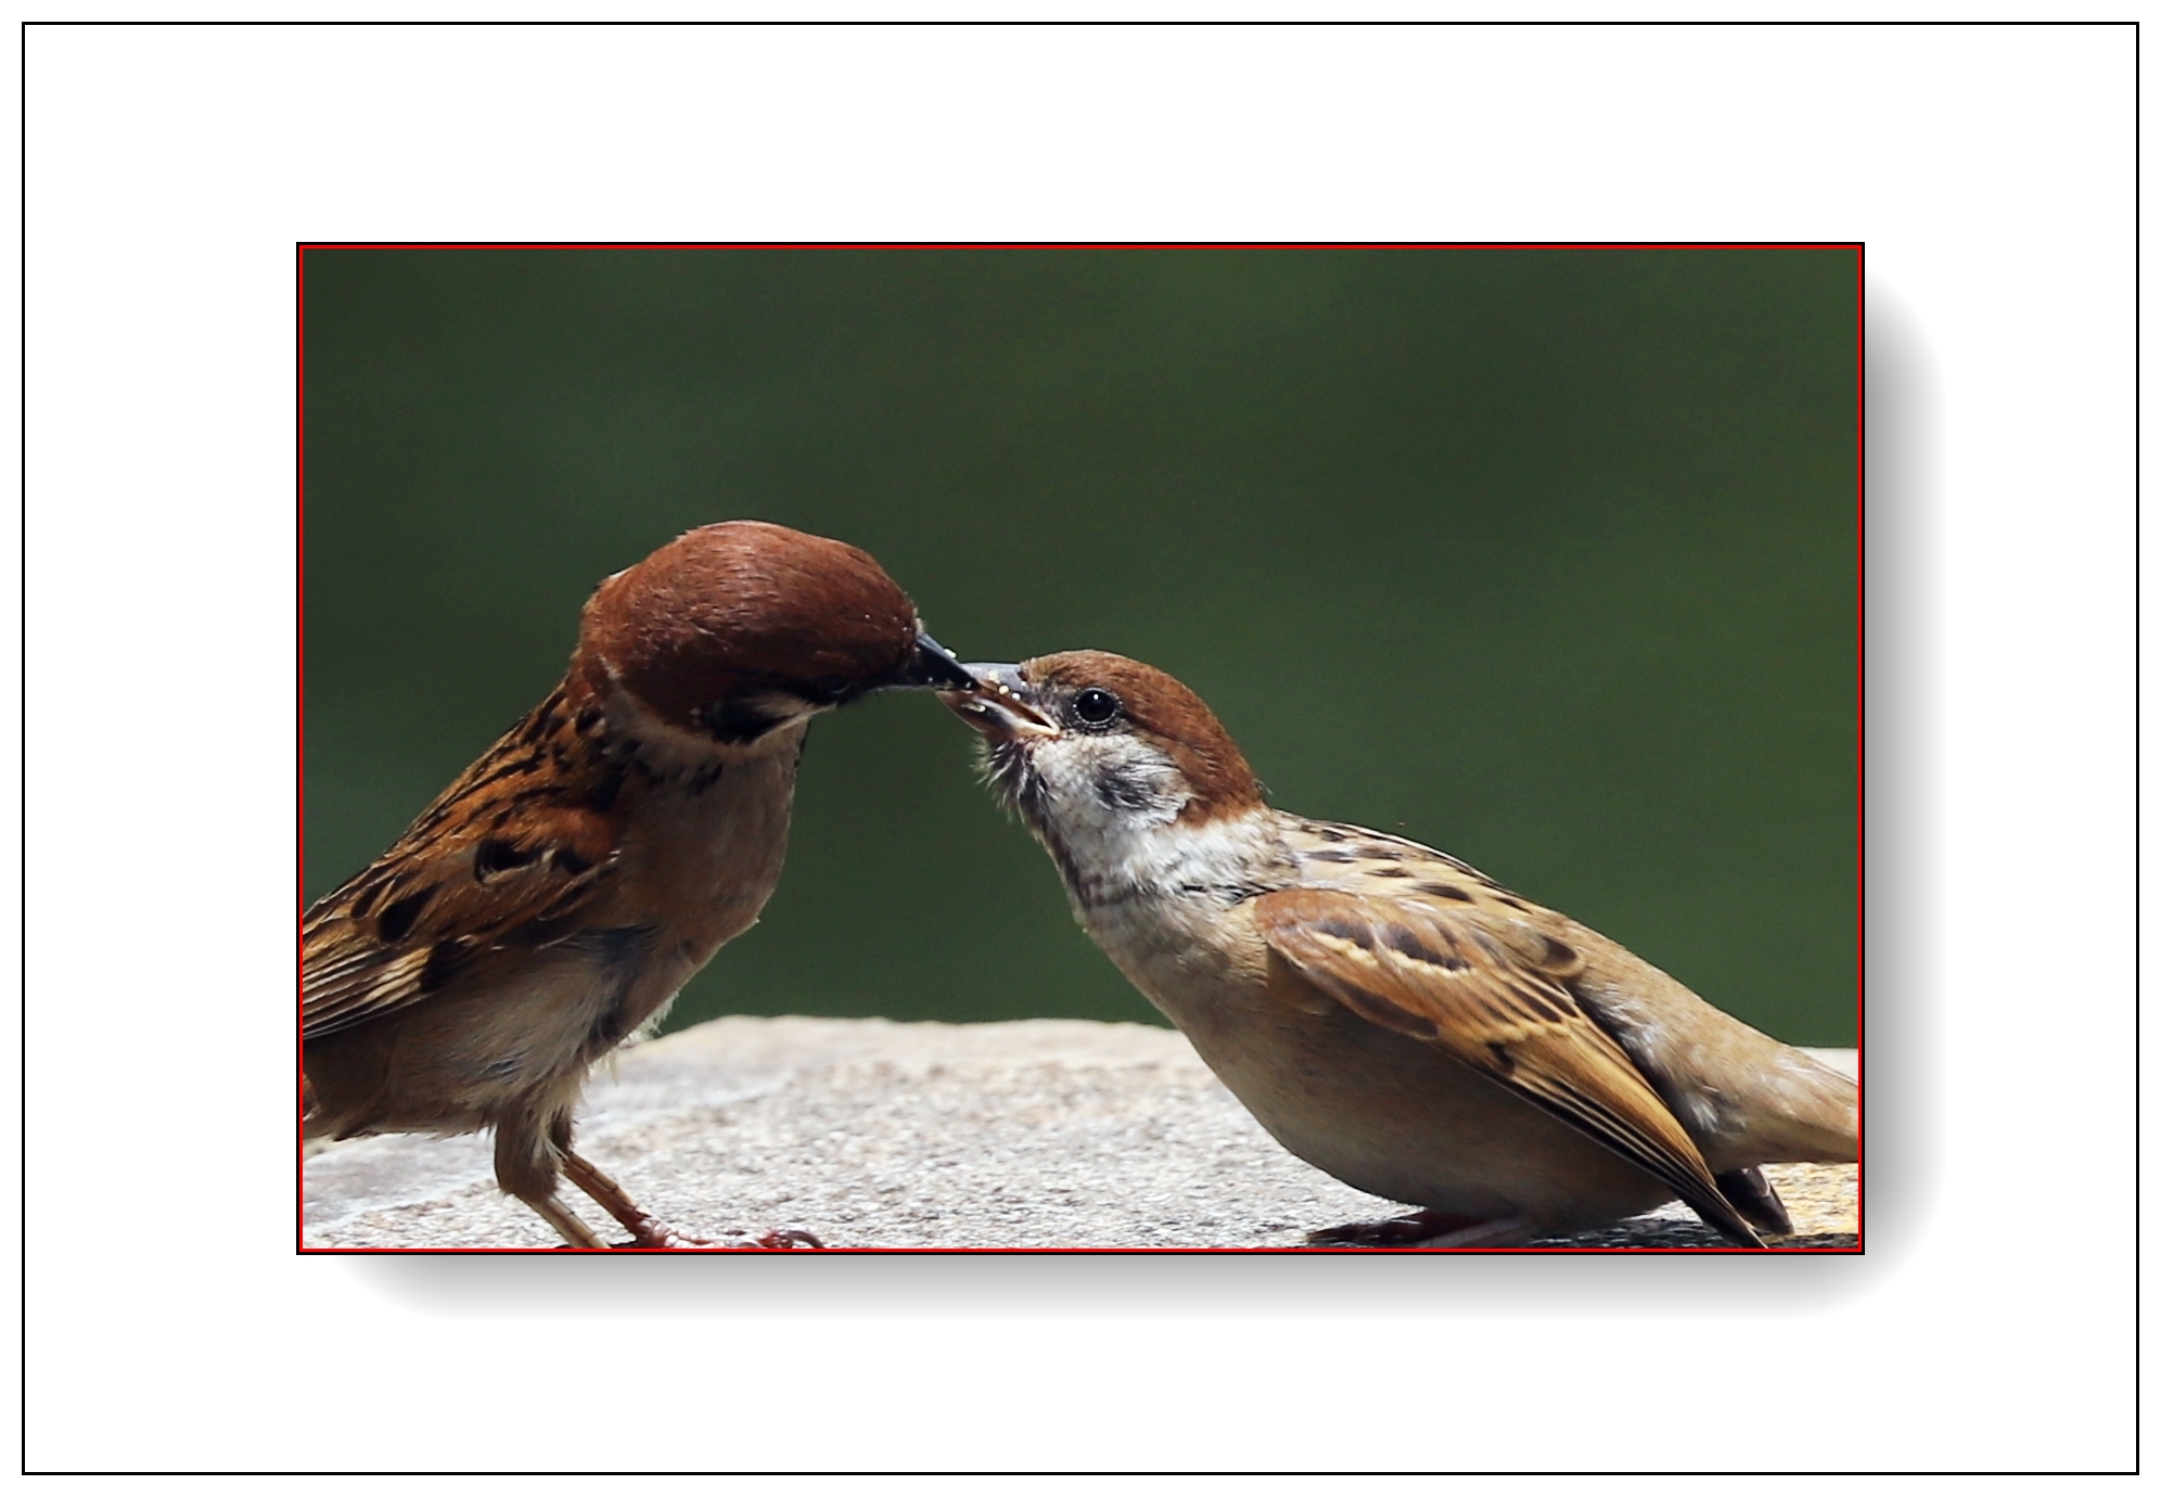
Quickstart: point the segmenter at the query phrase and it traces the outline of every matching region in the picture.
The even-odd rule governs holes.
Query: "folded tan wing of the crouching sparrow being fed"
[[[1694,1141],[1567,987],[1567,944],[1504,940],[1426,901],[1288,888],[1253,901],[1269,946],[1364,1020],[1431,1041],[1673,1188],[1733,1242],[1761,1246]],[[1521,950],[1541,940],[1536,957]]]

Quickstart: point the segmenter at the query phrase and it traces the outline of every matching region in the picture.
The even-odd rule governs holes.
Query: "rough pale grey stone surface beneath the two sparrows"
[[[1817,1052],[1852,1071],[1852,1052]],[[1143,1024],[726,1017],[588,1087],[579,1151],[644,1210],[847,1249],[1290,1249],[1400,1214],[1286,1154],[1182,1035]],[[555,1246],[486,1138],[354,1138],[307,1160],[309,1249]],[[1772,1166],[1783,1246],[1856,1244],[1852,1166]],[[566,1190],[603,1236],[599,1208]],[[1720,1246],[1673,1203],[1565,1246]]]

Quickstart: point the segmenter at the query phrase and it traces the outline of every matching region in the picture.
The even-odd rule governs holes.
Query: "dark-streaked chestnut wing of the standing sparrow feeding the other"
[[[439,992],[480,950],[573,929],[616,866],[622,771],[558,689],[363,873],[300,922],[300,1030],[333,1035]]]

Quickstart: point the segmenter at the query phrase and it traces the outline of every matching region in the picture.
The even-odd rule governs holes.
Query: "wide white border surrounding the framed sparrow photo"
[[[2129,28],[26,50],[30,1469],[2131,1465]],[[296,1257],[335,238],[1865,240],[1869,1253]]]

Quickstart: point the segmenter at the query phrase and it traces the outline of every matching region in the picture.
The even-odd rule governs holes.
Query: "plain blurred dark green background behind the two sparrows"
[[[754,516],[1163,665],[1800,1043],[1856,1013],[1852,251],[309,251],[305,894]],[[1156,1020],[925,693],[821,719],[717,1013]]]

